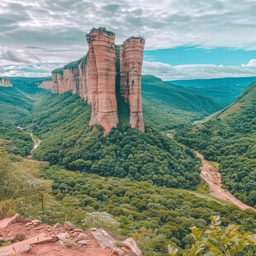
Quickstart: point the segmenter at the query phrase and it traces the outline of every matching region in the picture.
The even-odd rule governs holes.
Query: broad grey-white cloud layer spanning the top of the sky
[[[256,50],[255,9],[253,0],[2,0],[0,45],[40,46],[45,48],[40,58],[50,58],[50,49],[72,48],[72,59],[77,59],[87,49],[85,33],[106,26],[116,32],[117,43],[132,34],[145,36],[146,49]]]

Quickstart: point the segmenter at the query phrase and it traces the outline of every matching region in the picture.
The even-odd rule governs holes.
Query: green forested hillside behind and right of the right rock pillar
[[[159,130],[186,126],[221,109],[211,97],[149,75],[142,77],[142,99],[145,124]]]

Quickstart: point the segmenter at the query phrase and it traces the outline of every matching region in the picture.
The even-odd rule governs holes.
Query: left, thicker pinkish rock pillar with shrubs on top
[[[104,134],[118,123],[116,102],[115,34],[95,30],[87,35],[88,83],[92,104],[90,126],[100,125]]]

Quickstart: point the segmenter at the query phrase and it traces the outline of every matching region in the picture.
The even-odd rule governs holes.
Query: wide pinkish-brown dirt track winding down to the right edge
[[[201,178],[207,183],[210,188],[211,195],[221,200],[227,201],[230,204],[238,206],[242,210],[250,209],[256,211],[253,207],[245,205],[242,201],[239,201],[230,192],[221,187],[221,175],[216,172],[215,168],[204,158],[202,154],[195,151],[197,158],[201,159]]]

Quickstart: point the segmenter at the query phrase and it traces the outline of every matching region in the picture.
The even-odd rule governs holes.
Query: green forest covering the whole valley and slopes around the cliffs
[[[225,187],[255,206],[256,83],[220,111],[220,102],[201,92],[144,76],[145,133],[122,123],[103,136],[102,127],[88,126],[91,107],[83,98],[37,88],[36,78],[10,80],[12,88],[0,88],[0,219],[18,211],[87,229],[86,213],[106,211],[119,227],[98,227],[133,237],[146,256],[167,255],[168,244],[189,253],[190,228],[205,230],[210,216],[220,215],[225,228],[236,223],[242,233],[254,232],[254,211],[209,194],[192,149],[220,163]],[[22,158],[31,154],[30,132],[42,140],[34,160]]]

